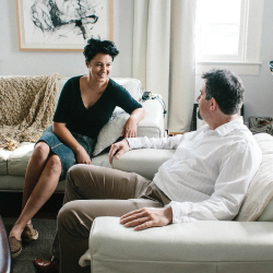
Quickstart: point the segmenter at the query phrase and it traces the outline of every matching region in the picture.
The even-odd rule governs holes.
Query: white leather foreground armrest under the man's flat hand
[[[201,221],[135,232],[118,217],[98,217],[80,261],[91,262],[92,273],[260,273],[271,272],[272,251],[272,223]]]

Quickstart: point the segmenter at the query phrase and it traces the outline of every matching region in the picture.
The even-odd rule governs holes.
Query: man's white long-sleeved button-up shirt
[[[174,149],[154,176],[170,200],[173,223],[233,219],[262,153],[239,117],[215,130],[207,124],[176,136],[127,139],[132,149]]]

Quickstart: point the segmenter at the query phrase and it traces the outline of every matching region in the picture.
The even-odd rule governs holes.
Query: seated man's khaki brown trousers
[[[153,190],[156,187],[151,182],[133,173],[93,165],[70,168],[64,205],[57,218],[58,236],[52,246],[52,254],[60,259],[60,272],[91,272],[90,266],[81,268],[79,260],[88,248],[90,230],[96,217],[122,216],[144,206],[162,207],[168,203],[166,195]],[[140,198],[143,195],[149,198]]]

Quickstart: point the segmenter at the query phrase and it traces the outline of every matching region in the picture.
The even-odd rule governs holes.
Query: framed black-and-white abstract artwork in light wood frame
[[[112,40],[112,0],[16,0],[20,50],[82,51]]]

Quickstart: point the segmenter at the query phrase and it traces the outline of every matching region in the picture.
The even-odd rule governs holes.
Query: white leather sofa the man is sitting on
[[[134,232],[120,225],[118,217],[98,217],[80,264],[91,266],[92,273],[273,272],[273,136],[260,133],[256,139],[263,153],[262,164],[235,221],[170,224]],[[174,153],[133,150],[114,159],[112,166],[152,179]],[[257,192],[263,198],[253,199]]]

